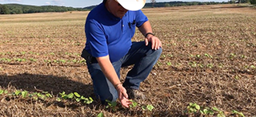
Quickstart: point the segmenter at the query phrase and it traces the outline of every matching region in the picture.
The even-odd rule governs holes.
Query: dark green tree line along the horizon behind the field
[[[151,0],[146,3],[144,8],[149,7],[170,7],[170,6],[197,6],[197,5],[214,5],[227,3],[250,3],[256,4],[256,0],[230,0],[229,2],[156,2]],[[0,4],[0,14],[32,14],[44,12],[66,12],[66,11],[86,11],[92,10],[95,6],[84,8],[73,8],[66,6],[27,6],[20,4]]]

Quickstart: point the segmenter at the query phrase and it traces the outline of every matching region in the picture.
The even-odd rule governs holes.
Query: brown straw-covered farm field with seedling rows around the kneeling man
[[[0,115],[256,116],[254,7],[142,11],[163,52],[141,84],[147,99],[130,108],[94,97],[80,57],[89,12],[0,15]],[[132,40],[143,39],[137,30]]]

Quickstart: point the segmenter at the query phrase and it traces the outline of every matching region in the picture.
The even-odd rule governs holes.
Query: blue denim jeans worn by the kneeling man
[[[123,86],[125,88],[138,89],[140,83],[146,80],[146,77],[150,74],[161,53],[162,48],[153,50],[151,49],[151,44],[146,46],[144,41],[133,42],[126,56],[112,63],[119,79],[120,69],[134,64],[134,67],[127,73]],[[106,103],[106,99],[112,102],[116,101],[118,92],[114,85],[104,76],[99,64],[87,63],[87,68],[93,80],[94,93],[101,99],[102,103]]]

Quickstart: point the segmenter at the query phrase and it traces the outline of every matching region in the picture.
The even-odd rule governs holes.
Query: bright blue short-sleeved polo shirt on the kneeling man
[[[127,11],[123,18],[117,18],[106,10],[103,3],[91,10],[86,18],[86,50],[93,57],[110,56],[115,62],[128,53],[135,28],[148,18],[142,10]]]

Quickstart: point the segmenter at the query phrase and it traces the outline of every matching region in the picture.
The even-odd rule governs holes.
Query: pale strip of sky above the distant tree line
[[[227,2],[227,0],[156,0],[156,2]],[[0,4],[17,3],[32,6],[71,6],[74,8],[83,8],[86,6],[94,6],[101,3],[102,0],[0,0]],[[146,0],[150,2],[150,0]]]

